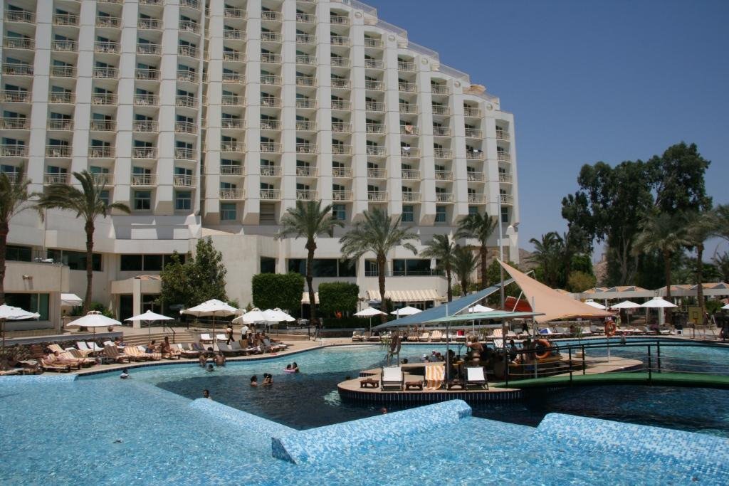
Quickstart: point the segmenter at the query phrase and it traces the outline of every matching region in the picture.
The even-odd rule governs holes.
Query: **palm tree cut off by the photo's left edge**
[[[31,181],[24,175],[22,165],[15,173],[0,173],[0,305],[5,303],[5,252],[10,220],[20,211],[33,207],[28,204],[34,196],[28,193]]]

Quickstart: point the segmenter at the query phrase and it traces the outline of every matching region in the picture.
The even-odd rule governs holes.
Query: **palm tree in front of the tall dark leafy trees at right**
[[[666,274],[666,298],[671,299],[671,256],[691,244],[686,216],[684,213],[653,213],[643,219],[640,229],[633,243],[633,253],[660,252]]]

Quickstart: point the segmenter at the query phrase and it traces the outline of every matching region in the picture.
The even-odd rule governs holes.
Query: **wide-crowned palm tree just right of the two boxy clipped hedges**
[[[356,222],[346,235],[340,238],[342,253],[348,258],[359,258],[368,251],[375,254],[377,261],[378,283],[380,284],[380,298],[385,302],[385,263],[387,254],[397,246],[403,246],[418,254],[412,243],[408,240],[418,240],[418,235],[410,228],[400,227],[400,216],[392,219],[386,210],[374,208],[364,211],[364,219]],[[405,243],[404,243],[405,242]],[[387,321],[387,315],[381,315],[382,322]]]

